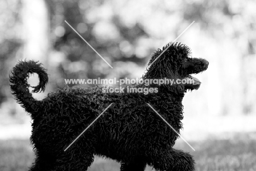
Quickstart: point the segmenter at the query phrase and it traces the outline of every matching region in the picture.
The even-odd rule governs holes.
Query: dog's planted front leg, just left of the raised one
[[[147,165],[147,161],[144,157],[135,157],[130,162],[121,163],[120,171],[144,171]]]

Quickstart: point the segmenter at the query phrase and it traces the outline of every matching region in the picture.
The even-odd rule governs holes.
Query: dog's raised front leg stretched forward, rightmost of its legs
[[[161,171],[194,171],[195,161],[193,157],[182,150],[169,149],[161,154],[154,155],[150,159],[150,165]]]

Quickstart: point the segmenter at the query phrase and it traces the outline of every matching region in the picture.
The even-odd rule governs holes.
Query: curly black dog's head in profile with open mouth
[[[175,90],[185,92],[199,89],[201,82],[190,74],[198,74],[207,69],[209,62],[202,58],[192,58],[190,48],[181,43],[169,43],[152,54],[144,79],[171,79]],[[171,84],[171,82],[170,82]]]

